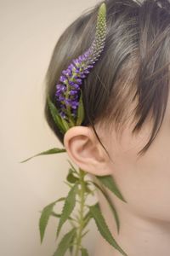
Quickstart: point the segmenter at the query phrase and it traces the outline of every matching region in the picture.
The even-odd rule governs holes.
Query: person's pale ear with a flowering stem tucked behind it
[[[65,132],[64,144],[71,160],[83,171],[98,176],[111,174],[109,156],[91,128],[71,127]]]

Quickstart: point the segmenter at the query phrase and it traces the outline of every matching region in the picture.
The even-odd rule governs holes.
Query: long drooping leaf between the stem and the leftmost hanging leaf
[[[78,184],[75,183],[65,199],[65,205],[64,205],[62,213],[61,213],[61,218],[59,219],[57,236],[59,236],[59,231],[61,230],[62,225],[65,223],[67,218],[69,218],[69,216],[71,215],[71,212],[73,211],[73,209],[76,205],[77,189],[78,189]]]

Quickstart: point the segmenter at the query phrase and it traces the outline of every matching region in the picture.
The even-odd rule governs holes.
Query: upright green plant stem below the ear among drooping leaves
[[[83,219],[83,212],[84,212],[84,206],[85,206],[85,183],[84,183],[84,176],[86,173],[79,169],[80,171],[80,184],[81,184],[81,189],[80,189],[80,217],[79,217],[79,227],[78,227],[78,232],[77,232],[77,246],[76,246],[76,252],[75,256],[78,256],[79,249],[81,247],[81,242],[82,242],[82,230],[84,227],[84,219]]]

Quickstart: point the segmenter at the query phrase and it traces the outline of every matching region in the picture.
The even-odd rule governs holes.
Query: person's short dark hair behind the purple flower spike
[[[133,115],[135,133],[151,117],[150,140],[138,153],[144,154],[155,139],[167,108],[170,3],[167,0],[106,0],[105,3],[105,49],[82,84],[85,108],[82,125],[92,126],[99,139],[95,124],[123,131],[126,120]],[[53,102],[55,84],[62,70],[93,43],[100,4],[68,26],[54,47],[45,77],[45,96],[49,94]],[[134,106],[132,112],[131,106]],[[48,125],[63,143],[64,136],[54,124],[47,101],[44,110]]]

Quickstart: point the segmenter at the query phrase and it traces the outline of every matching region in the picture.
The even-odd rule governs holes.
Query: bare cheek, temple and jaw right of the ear
[[[142,141],[128,134],[123,137],[121,147],[112,154],[113,176],[129,209],[146,218],[170,221],[169,130],[164,126],[148,151],[138,158],[137,153],[148,142],[148,135],[142,137]]]

